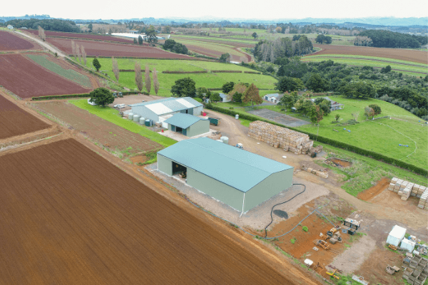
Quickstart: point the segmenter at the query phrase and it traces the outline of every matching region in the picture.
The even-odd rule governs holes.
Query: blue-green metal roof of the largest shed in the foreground
[[[292,168],[210,138],[182,140],[158,154],[242,192],[247,192],[275,172]]]

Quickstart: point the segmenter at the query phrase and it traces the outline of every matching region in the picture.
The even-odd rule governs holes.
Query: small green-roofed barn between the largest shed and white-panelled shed
[[[210,131],[209,120],[189,114],[175,114],[163,123],[168,123],[168,130],[182,133],[190,138]]]

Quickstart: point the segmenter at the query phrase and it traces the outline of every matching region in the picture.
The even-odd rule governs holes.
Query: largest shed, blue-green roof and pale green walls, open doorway
[[[158,170],[185,172],[187,184],[247,212],[287,189],[293,167],[209,138],[182,140],[158,152]]]

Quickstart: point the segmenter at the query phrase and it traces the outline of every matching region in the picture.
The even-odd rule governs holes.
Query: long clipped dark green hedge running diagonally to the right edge
[[[250,120],[250,121],[261,120],[261,121],[266,122],[266,123],[271,123],[272,125],[278,125],[280,127],[288,128],[290,130],[295,130],[295,131],[300,132],[300,133],[305,133],[305,134],[309,135],[309,137],[310,137],[311,140],[317,140],[317,142],[323,142],[323,143],[325,143],[327,145],[332,145],[333,147],[339,147],[339,148],[342,148],[343,150],[349,150],[349,151],[355,152],[355,153],[357,153],[359,155],[364,155],[364,156],[367,156],[367,157],[372,157],[374,160],[379,160],[379,161],[382,161],[382,162],[386,162],[386,163],[388,163],[390,165],[396,165],[397,167],[401,167],[401,168],[403,168],[405,170],[409,170],[409,171],[415,172],[415,173],[417,173],[419,175],[424,175],[425,177],[428,176],[428,170],[425,170],[422,167],[417,167],[416,165],[411,165],[411,164],[409,164],[407,162],[403,162],[402,160],[397,160],[395,158],[388,157],[386,155],[382,155],[382,154],[380,154],[378,152],[373,152],[373,151],[370,151],[370,150],[365,150],[364,148],[357,147],[355,145],[349,145],[349,144],[347,144],[345,142],[340,142],[340,141],[337,141],[337,140],[332,140],[331,138],[326,138],[326,137],[323,137],[321,135],[315,135],[313,133],[307,133],[305,131],[302,131],[302,130],[299,130],[299,129],[296,129],[296,128],[287,127],[286,125],[282,125],[280,123],[272,122],[271,120],[266,120],[265,118],[260,118],[258,116],[251,115],[251,114],[248,114],[248,113],[239,112],[237,110],[229,110],[229,109],[218,107],[218,106],[213,105],[213,104],[207,104],[207,105],[205,105],[205,108],[208,108],[208,109],[211,109],[211,110],[215,110],[215,111],[218,111],[220,113],[225,113],[227,115],[232,115],[232,116],[235,116],[236,113],[238,113],[239,116],[240,116],[240,118],[243,118],[245,120]]]

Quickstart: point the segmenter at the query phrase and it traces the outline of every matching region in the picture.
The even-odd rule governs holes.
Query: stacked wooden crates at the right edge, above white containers
[[[428,188],[417,185],[412,182],[401,180],[397,177],[392,178],[388,187],[389,191],[396,192],[402,200],[406,201],[410,196],[420,198],[417,207],[428,210]]]

